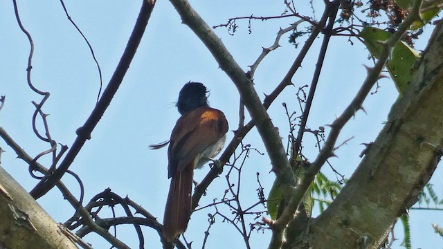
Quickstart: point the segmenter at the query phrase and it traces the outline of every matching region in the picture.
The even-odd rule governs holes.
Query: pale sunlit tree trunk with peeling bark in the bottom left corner
[[[2,167],[0,248],[77,248],[51,216]]]

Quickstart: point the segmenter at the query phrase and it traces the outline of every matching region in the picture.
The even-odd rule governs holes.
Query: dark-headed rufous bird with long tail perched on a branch
[[[186,83],[176,107],[181,114],[170,140],[151,149],[168,147],[168,178],[171,178],[163,216],[163,237],[170,242],[188,227],[192,212],[194,169],[212,160],[224,147],[228,121],[224,113],[209,107],[208,90],[200,82]]]

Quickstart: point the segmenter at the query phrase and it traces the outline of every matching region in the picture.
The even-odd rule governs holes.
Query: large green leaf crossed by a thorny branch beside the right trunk
[[[360,36],[365,40],[365,45],[371,55],[378,58],[383,50],[383,42],[391,37],[391,33],[379,28],[366,27],[361,30]],[[418,59],[419,53],[404,42],[399,42],[392,50],[386,68],[388,68],[388,72],[400,95],[403,95],[410,82],[412,82],[413,73],[411,69]]]

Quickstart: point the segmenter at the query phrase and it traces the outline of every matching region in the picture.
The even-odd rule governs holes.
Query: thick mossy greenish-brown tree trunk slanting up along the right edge
[[[443,28],[435,27],[409,90],[304,246],[377,248],[417,201],[442,156]],[[300,245],[296,246],[300,248]]]

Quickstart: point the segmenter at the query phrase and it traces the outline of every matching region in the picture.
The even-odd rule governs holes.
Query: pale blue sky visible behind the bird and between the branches
[[[321,15],[323,2],[314,2],[317,18]],[[282,3],[270,4],[268,1],[192,1],[192,5],[210,26],[226,22],[230,17],[248,15],[280,15],[284,10]],[[99,78],[89,49],[82,37],[71,26],[64,15],[60,2],[19,2],[21,21],[33,36],[35,56],[33,59],[33,82],[37,88],[51,92],[51,98],[44,105],[52,137],[64,145],[71,146],[75,139],[75,129],[80,127],[96,103]],[[91,42],[96,57],[102,67],[103,81],[107,84],[121,53],[132,32],[141,1],[76,1],[66,2],[71,17],[80,26]],[[300,5],[298,11],[310,15],[308,5]],[[286,28],[294,20],[252,21],[252,33],[247,30],[247,21],[238,21],[239,28],[234,36],[228,35],[226,28],[217,28],[219,35],[237,60],[239,65],[248,70],[260,54],[262,47],[271,46],[280,27]],[[430,28],[425,30],[429,34]],[[48,149],[48,145],[33,134],[31,116],[34,111],[31,101],[39,101],[26,84],[26,63],[29,45],[26,37],[19,30],[15,21],[11,1],[0,2],[0,95],[6,95],[5,107],[0,112],[0,126],[6,129],[28,154],[37,155]],[[284,73],[298,54],[298,49],[287,43],[287,35],[280,41],[281,48],[270,53],[260,64],[255,73],[255,87],[258,93],[270,93],[282,80]],[[333,37],[325,66],[312,107],[308,126],[316,129],[332,123],[341,114],[347,103],[354,97],[365,77],[363,65],[371,65],[368,51],[356,39],[354,45],[346,42],[345,37]],[[300,41],[302,43],[302,41]],[[279,127],[280,133],[288,130],[287,119],[281,102],[287,102],[291,111],[298,111],[295,93],[298,86],[311,82],[311,73],[316,64],[316,55],[321,42],[319,38],[314,49],[308,54],[302,68],[293,78],[295,87],[288,87],[275,100],[269,113]],[[417,48],[423,49],[426,41],[418,42]],[[92,139],[86,145],[71,166],[71,170],[82,178],[85,199],[107,187],[129,197],[143,205],[155,216],[163,219],[163,208],[169,187],[167,178],[166,149],[150,151],[148,145],[167,140],[179,113],[174,107],[179,90],[184,83],[193,80],[204,82],[210,89],[211,106],[226,113],[230,130],[238,123],[238,94],[235,86],[218,68],[217,62],[206,47],[195,37],[190,29],[181,24],[181,19],[171,3],[159,1],[156,4],[150,23],[138,53],[127,72],[123,84],[111,102],[105,116],[92,133]],[[397,98],[397,91],[389,79],[379,82],[381,88],[377,94],[369,95],[363,104],[367,113],[359,112],[346,125],[338,143],[354,137],[338,151],[337,158],[330,162],[334,167],[350,177],[360,158],[362,142],[373,141],[386,120],[390,107]],[[264,97],[264,95],[261,95]],[[233,133],[228,133],[228,140]],[[284,143],[286,135],[282,136]],[[259,151],[264,146],[255,129],[246,136],[245,143],[250,143]],[[305,136],[305,154],[309,158],[316,156],[314,139]],[[2,154],[1,166],[14,176],[26,190],[31,190],[37,181],[28,176],[26,164],[15,158],[12,149],[3,140],[0,141],[6,153]],[[50,158],[40,161],[49,165]],[[244,166],[242,199],[245,203],[255,202],[255,173],[260,172],[261,183],[269,191],[274,176],[269,158],[253,153]],[[195,173],[196,181],[201,181],[206,169]],[[224,174],[226,174],[225,169]],[[323,172],[331,179],[334,175],[325,166]],[[224,174],[210,185],[208,196],[202,199],[202,205],[221,196],[226,189]],[[64,177],[78,194],[78,187],[73,179]],[[442,194],[442,170],[435,172],[431,183],[435,184],[437,194]],[[57,222],[64,222],[73,214],[71,206],[62,199],[58,190],[52,190],[39,203]],[[187,238],[195,241],[196,248],[201,247],[203,224],[206,229],[208,212],[204,210],[193,214],[187,232]],[[225,210],[228,211],[228,210]],[[443,218],[438,212],[411,211],[413,248],[435,248],[442,244],[442,239],[433,233],[431,223],[443,225]],[[242,238],[236,232],[228,233],[232,226],[218,220],[211,230],[212,236],[208,248],[243,248]],[[397,234],[401,234],[401,225],[397,225]],[[159,239],[155,232],[144,229],[146,246],[159,248]],[[222,235],[221,235],[222,232]],[[120,239],[129,246],[138,243],[131,228],[123,228]],[[398,239],[402,239],[397,235]],[[270,232],[253,233],[251,246],[263,248],[267,245]],[[107,243],[96,237],[86,240],[95,248],[105,248]],[[396,243],[395,248],[400,248]]]

